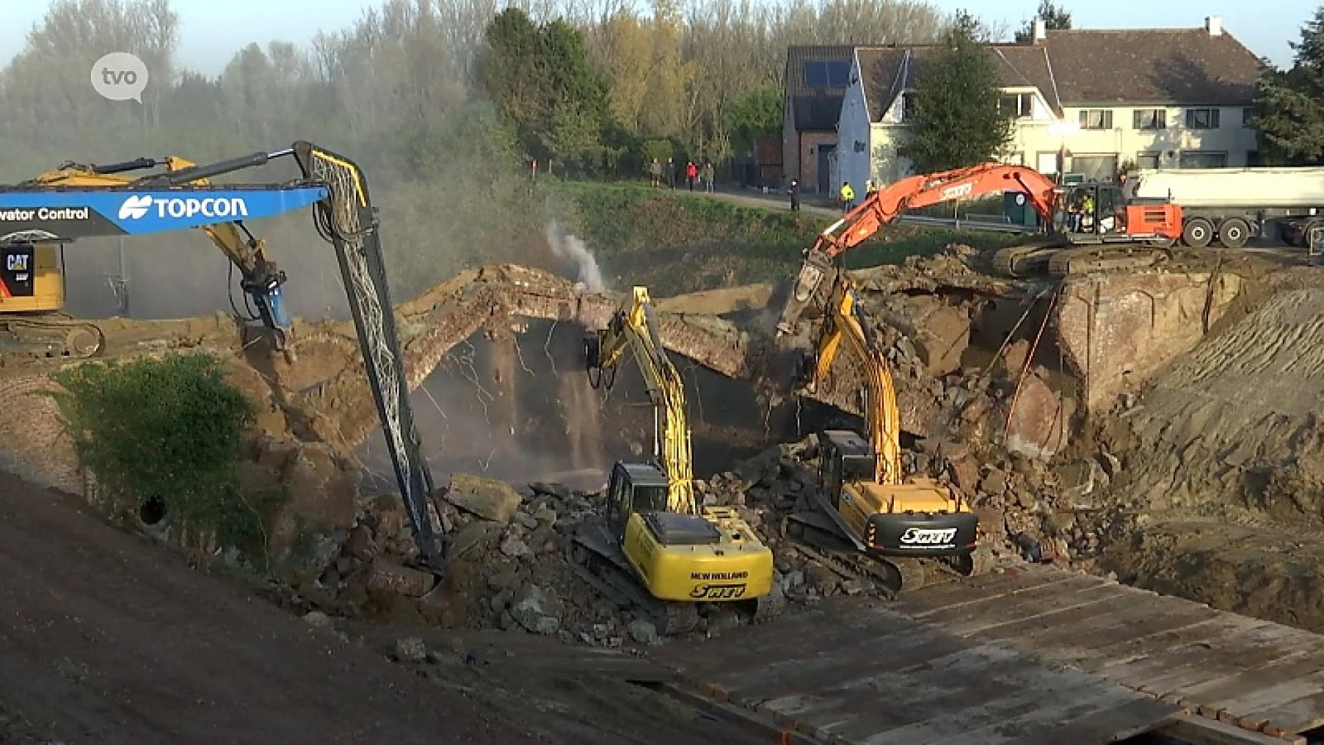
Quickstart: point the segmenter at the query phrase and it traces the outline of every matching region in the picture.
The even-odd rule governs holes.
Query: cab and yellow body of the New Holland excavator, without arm
[[[608,526],[659,601],[745,601],[772,591],[772,551],[735,510],[667,512],[667,479],[647,464],[617,463]]]

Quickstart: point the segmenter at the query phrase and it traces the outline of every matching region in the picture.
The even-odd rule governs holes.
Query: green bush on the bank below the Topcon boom
[[[257,414],[203,354],[85,363],[52,394],[79,463],[113,514],[163,510],[187,546],[265,547],[273,494],[246,496],[238,467]]]

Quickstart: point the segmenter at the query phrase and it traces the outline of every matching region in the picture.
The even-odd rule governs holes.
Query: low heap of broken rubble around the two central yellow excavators
[[[782,538],[785,516],[809,509],[816,451],[817,439],[809,436],[695,483],[704,505],[736,506],[773,549],[779,590],[790,601],[786,612],[841,594],[882,594],[806,559]],[[906,461],[914,472],[951,484],[976,506],[988,533],[982,550],[997,561],[1063,562],[1098,549],[1098,533],[1075,518],[1070,492],[1053,489],[1055,475],[1030,459],[980,467],[968,445],[925,441],[907,451]],[[1086,471],[1090,479],[1107,479],[1103,467]],[[454,475],[434,504],[436,528],[453,536],[453,547],[448,577],[433,597],[412,601],[399,593],[396,578],[408,571],[399,567],[416,547],[402,510],[387,500],[359,518],[339,555],[299,587],[301,594],[330,615],[500,628],[604,647],[658,640],[649,620],[596,594],[568,562],[569,538],[585,521],[601,518],[601,492],[560,484],[531,484],[520,492],[500,481]],[[714,606],[698,634],[716,635],[744,622]]]

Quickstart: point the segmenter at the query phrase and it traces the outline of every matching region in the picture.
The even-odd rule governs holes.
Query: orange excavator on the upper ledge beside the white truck
[[[824,277],[835,273],[843,252],[869,240],[906,209],[1002,192],[1023,194],[1045,229],[1041,240],[994,255],[993,268],[1012,277],[1148,266],[1158,258],[1155,249],[1168,248],[1181,237],[1181,207],[1164,199],[1128,201],[1117,184],[1062,187],[1033,168],[1004,163],[910,176],[865,198],[805,252],[777,335],[794,333],[805,306],[817,296]]]

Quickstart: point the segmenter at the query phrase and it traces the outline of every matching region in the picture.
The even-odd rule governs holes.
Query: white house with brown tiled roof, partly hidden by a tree
[[[1217,16],[1193,29],[1046,30],[990,44],[1014,119],[1001,154],[1043,174],[1110,180],[1140,168],[1258,163],[1250,126],[1259,58]],[[857,46],[837,123],[835,168],[855,191],[914,172],[907,102],[931,46]]]

